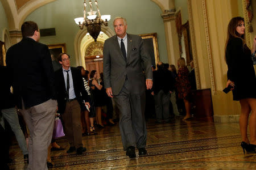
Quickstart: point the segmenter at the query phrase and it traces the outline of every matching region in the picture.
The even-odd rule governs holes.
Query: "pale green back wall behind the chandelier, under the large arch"
[[[107,1],[99,2],[101,14],[112,15],[109,28],[114,30],[113,19],[122,15],[127,19],[128,33],[158,33],[160,60],[168,62],[164,23],[159,6],[148,0],[129,0],[129,3],[126,0],[112,0],[111,2],[111,5]],[[67,52],[72,56],[71,65],[76,66],[76,58],[81,58],[81,56],[75,57],[73,44],[80,29],[75,24],[74,18],[80,16],[82,16],[82,1],[57,0],[36,9],[25,20],[36,21],[40,28],[56,28],[56,36],[42,37],[40,41],[44,44],[66,43]]]

